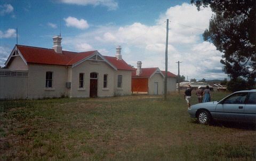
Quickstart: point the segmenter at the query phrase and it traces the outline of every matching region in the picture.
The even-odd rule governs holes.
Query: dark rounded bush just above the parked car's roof
[[[230,92],[236,92],[247,89],[247,82],[243,78],[231,79],[227,83],[227,90]]]

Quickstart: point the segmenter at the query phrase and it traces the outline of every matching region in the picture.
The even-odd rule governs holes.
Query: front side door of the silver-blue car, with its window
[[[237,121],[244,120],[246,96],[247,92],[239,92],[220,101],[215,109],[215,118]]]

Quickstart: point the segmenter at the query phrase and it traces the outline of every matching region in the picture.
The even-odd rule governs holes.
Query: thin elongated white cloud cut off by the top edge
[[[116,10],[118,8],[118,3],[115,0],[62,0],[62,2],[76,5],[101,5],[108,7],[108,10]]]

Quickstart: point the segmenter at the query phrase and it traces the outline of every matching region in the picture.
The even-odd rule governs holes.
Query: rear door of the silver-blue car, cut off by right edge
[[[244,119],[247,122],[256,122],[256,92],[249,92],[245,102]]]

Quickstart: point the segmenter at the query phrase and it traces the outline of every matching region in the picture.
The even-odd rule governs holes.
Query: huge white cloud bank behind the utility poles
[[[127,63],[136,66],[136,62],[140,60],[142,68],[159,67],[164,70],[166,38],[164,21],[169,18],[171,21],[168,44],[169,71],[178,74],[178,65],[175,62],[179,60],[183,61],[180,64],[180,74],[188,76],[189,79],[225,78],[227,76],[221,71],[220,63],[222,53],[211,43],[202,41],[202,34],[204,29],[209,27],[211,15],[210,8],[198,12],[196,6],[183,3],[167,9],[152,26],[140,22],[133,22],[127,26],[113,24],[100,26],[91,31],[81,32],[77,36],[65,37],[63,44],[71,51],[104,49],[102,54],[110,56],[115,55],[115,46],[121,45],[123,59]],[[85,47],[77,45],[81,43],[86,43]]]

